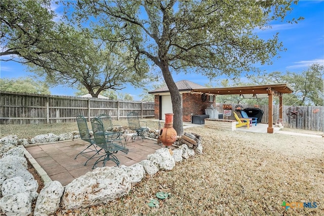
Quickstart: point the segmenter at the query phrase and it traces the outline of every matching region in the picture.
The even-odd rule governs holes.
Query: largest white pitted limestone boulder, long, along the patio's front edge
[[[106,204],[128,194],[131,182],[119,167],[98,167],[65,186],[62,203],[66,209]]]

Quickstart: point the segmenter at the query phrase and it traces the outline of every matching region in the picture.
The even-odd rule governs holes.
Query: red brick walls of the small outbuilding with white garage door
[[[193,115],[204,115],[205,109],[215,104],[214,102],[209,101],[209,96],[205,102],[201,101],[200,94],[182,94],[182,120],[186,122],[191,122],[191,113]],[[154,96],[154,118],[159,119],[159,95]]]

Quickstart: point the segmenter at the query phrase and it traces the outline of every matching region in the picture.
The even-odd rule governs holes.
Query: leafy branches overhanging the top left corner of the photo
[[[55,51],[48,42],[56,34],[49,0],[1,1],[0,9],[0,55],[10,56],[2,61],[28,63]]]

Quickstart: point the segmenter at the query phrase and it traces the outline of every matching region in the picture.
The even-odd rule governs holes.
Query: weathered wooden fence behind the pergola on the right
[[[237,104],[231,104],[234,111]],[[216,103],[219,113],[224,113],[223,104]],[[242,104],[243,109],[254,107],[254,105]],[[262,123],[268,123],[268,105],[258,105],[259,109],[263,110]],[[284,127],[305,129],[308,131],[323,131],[324,127],[324,107],[323,106],[294,106],[298,107],[302,111],[302,115],[298,118],[291,118],[286,112],[289,112],[289,108],[292,106],[282,107],[282,121],[284,122]],[[276,123],[279,118],[279,105],[273,105],[273,122]],[[224,117],[226,118],[226,117]],[[234,119],[233,114],[230,119]]]

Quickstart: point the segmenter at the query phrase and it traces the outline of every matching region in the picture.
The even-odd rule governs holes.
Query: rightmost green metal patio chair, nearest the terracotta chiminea
[[[147,122],[140,121],[137,112],[134,111],[127,113],[127,121],[130,129],[136,131],[136,133],[132,136],[132,142],[135,141],[136,137],[141,137],[142,140],[144,140],[144,132],[147,131]],[[141,126],[140,122],[143,122],[143,124],[145,123],[145,127]]]

